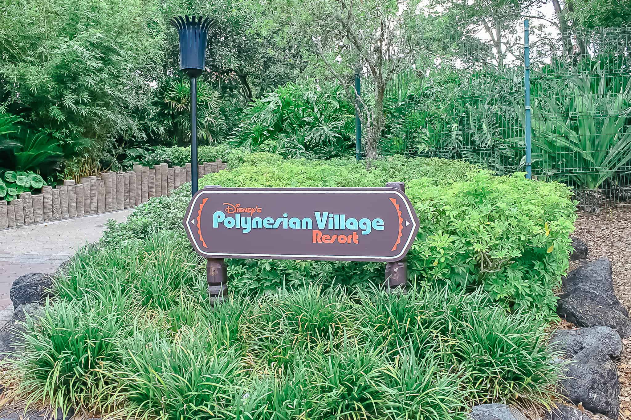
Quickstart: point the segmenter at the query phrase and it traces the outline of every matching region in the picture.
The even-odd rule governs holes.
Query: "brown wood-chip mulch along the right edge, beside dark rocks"
[[[598,214],[581,212],[575,227],[574,236],[587,244],[587,259],[610,259],[616,296],[631,312],[631,206],[605,208]],[[572,263],[570,270],[580,263]],[[620,419],[631,420],[631,339],[622,342],[622,357],[616,361],[622,385]]]

